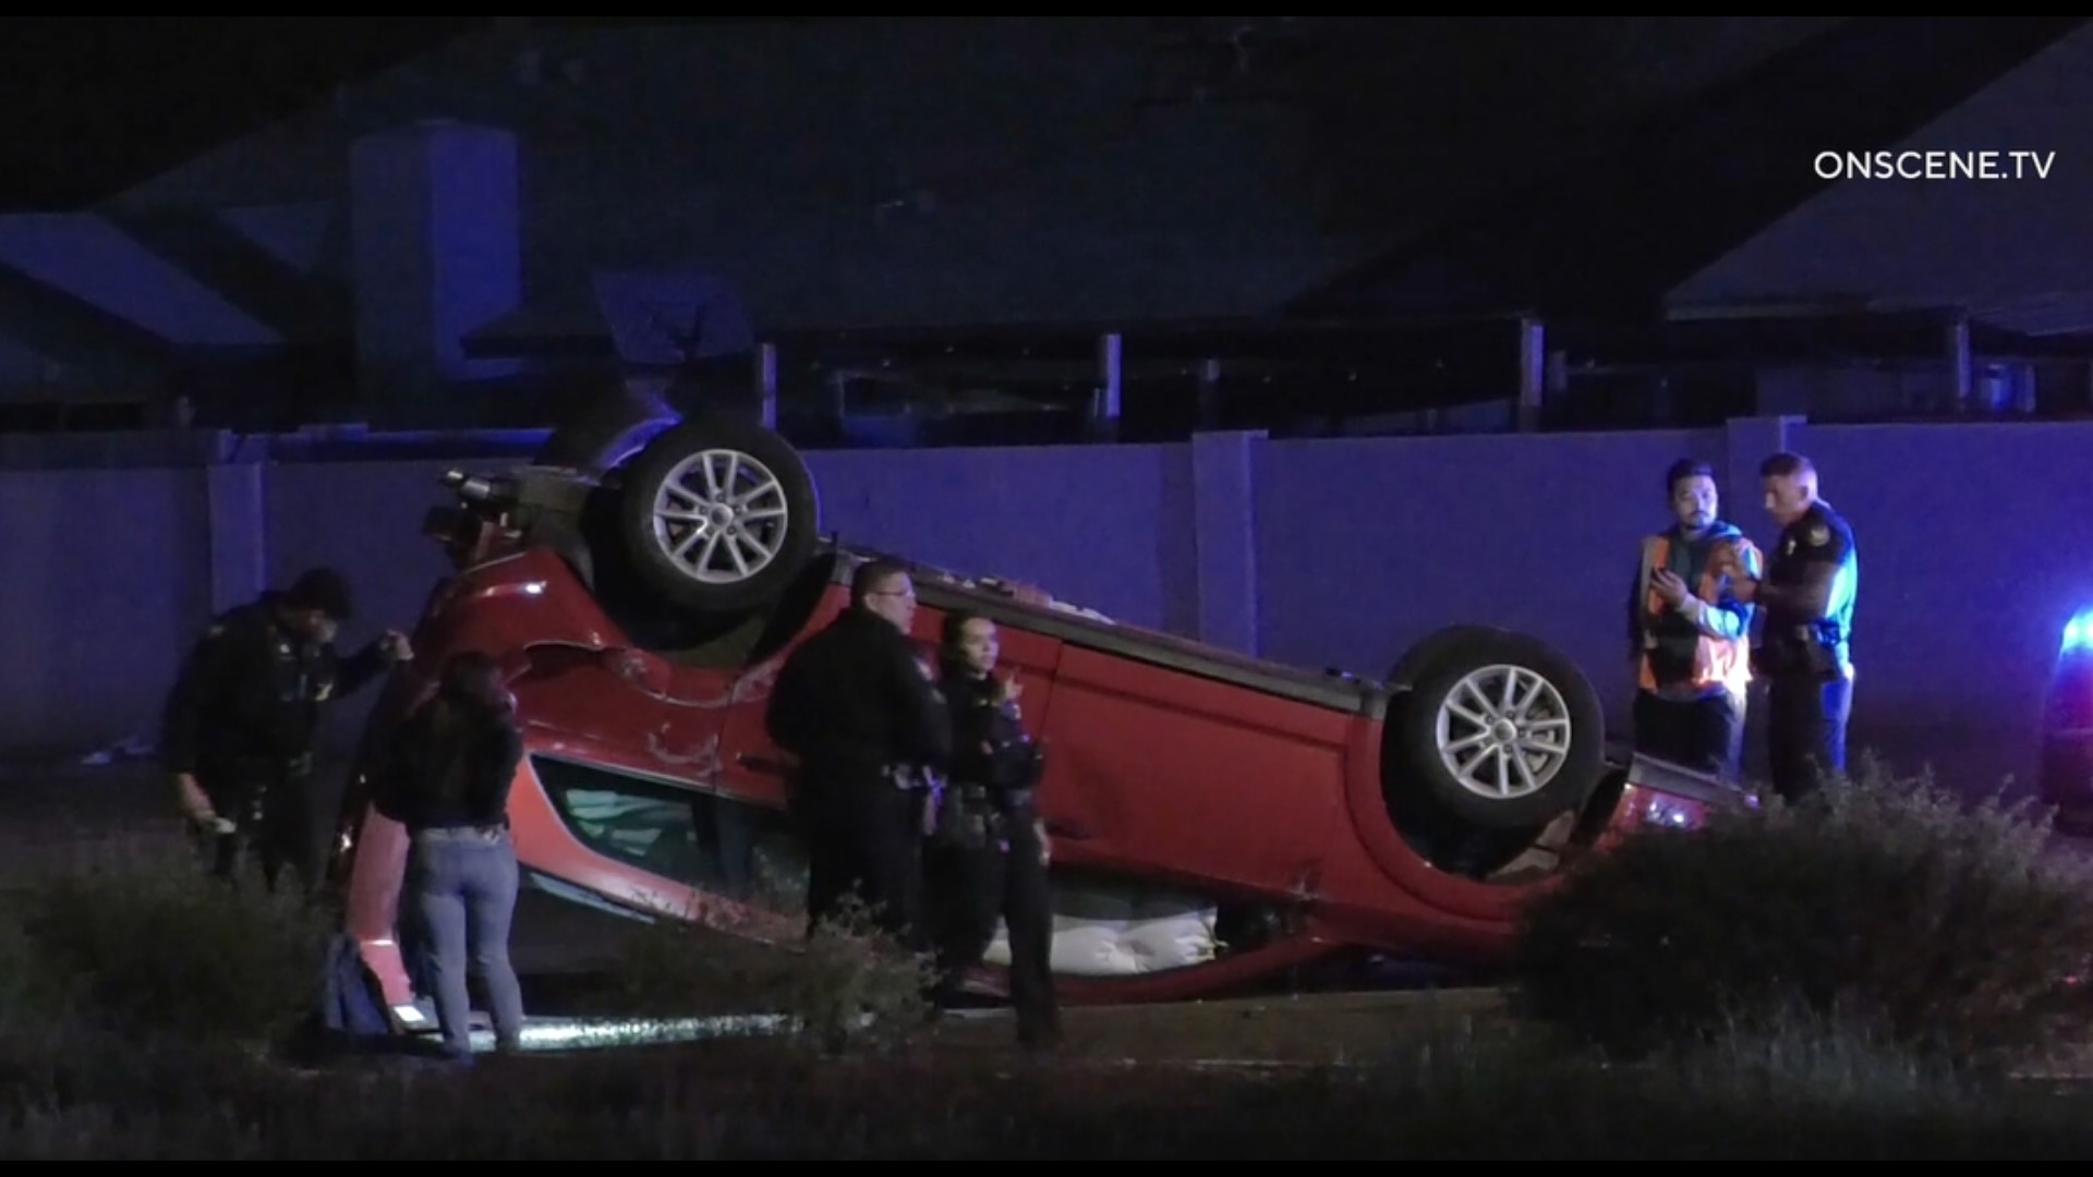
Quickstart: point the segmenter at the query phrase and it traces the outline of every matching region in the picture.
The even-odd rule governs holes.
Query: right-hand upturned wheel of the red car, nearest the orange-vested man
[[[1402,691],[1388,716],[1390,781],[1421,790],[1459,821],[1540,827],[1582,806],[1605,773],[1599,693],[1540,639],[1480,626],[1442,630],[1392,679]],[[1507,681],[1515,702],[1528,704],[1520,714],[1501,714]],[[1524,760],[1507,754],[1507,737],[1528,741]]]

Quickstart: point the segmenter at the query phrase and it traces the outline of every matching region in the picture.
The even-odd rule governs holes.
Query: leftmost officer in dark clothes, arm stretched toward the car
[[[356,693],[412,656],[398,630],[350,658],[335,632],[350,618],[347,580],[314,568],[285,591],[220,616],[167,695],[161,760],[178,802],[209,840],[211,873],[232,878],[241,848],[276,890],[283,867],[316,880],[312,758],[320,706]]]

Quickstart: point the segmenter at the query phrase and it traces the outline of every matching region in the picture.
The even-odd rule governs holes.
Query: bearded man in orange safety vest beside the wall
[[[1735,779],[1752,681],[1752,605],[1723,570],[1760,576],[1760,555],[1716,513],[1714,467],[1681,459],[1664,471],[1676,524],[1643,536],[1628,597],[1635,658],[1635,750]]]

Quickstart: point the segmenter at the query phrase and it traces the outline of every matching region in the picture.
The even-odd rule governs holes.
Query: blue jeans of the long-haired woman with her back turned
[[[421,829],[406,861],[406,890],[421,915],[435,1018],[444,1049],[471,1056],[471,965],[494,1005],[494,1041],[513,1051],[523,1037],[523,991],[509,963],[509,921],[517,907],[517,852],[509,831]]]

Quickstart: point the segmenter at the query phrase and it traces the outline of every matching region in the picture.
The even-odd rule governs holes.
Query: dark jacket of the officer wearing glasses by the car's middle
[[[952,754],[952,723],[915,645],[856,607],[791,651],[764,727],[818,777],[877,777]]]

